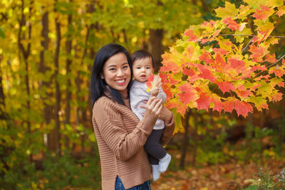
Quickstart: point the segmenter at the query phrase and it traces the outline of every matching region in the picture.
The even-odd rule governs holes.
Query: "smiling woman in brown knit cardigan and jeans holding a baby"
[[[162,100],[150,97],[140,121],[130,110],[132,62],[128,51],[115,43],[98,51],[91,75],[93,128],[98,143],[102,189],[150,189],[150,165],[143,149],[160,116],[165,122],[162,144],[174,130],[172,112]]]

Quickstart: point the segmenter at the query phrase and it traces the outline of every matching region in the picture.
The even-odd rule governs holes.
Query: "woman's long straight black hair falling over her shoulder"
[[[127,89],[128,89],[128,95],[130,94],[130,86],[133,78],[133,69],[132,69],[133,65],[132,65],[132,60],[130,59],[130,54],[123,46],[120,46],[119,44],[116,43],[109,43],[100,48],[94,60],[93,69],[91,73],[91,82],[90,82],[92,107],[94,103],[99,99],[99,97],[103,96],[104,91],[108,91],[113,100],[124,105],[120,93],[111,87],[107,88],[108,85],[107,83],[105,83],[105,80],[100,78],[100,75],[103,74],[103,66],[105,62],[110,57],[118,53],[124,53],[128,60],[128,64],[130,67],[130,83],[128,84]]]

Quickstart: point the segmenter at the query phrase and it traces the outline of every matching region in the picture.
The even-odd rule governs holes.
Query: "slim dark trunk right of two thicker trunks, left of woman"
[[[73,0],[70,0],[72,2]],[[68,28],[72,27],[72,15],[68,15]],[[71,49],[72,49],[72,40],[71,40],[71,33],[68,32],[67,40],[66,40],[66,53],[68,58],[66,59],[66,75],[68,76],[71,73],[71,63],[72,60],[69,58],[71,56]],[[65,122],[65,129],[66,125],[71,125],[71,79],[67,78],[67,85],[66,85],[66,122]],[[65,137],[66,139],[66,149],[69,150],[69,139],[68,136]]]

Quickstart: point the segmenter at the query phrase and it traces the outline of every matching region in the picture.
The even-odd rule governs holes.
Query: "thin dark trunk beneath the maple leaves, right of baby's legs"
[[[187,154],[187,149],[189,147],[189,119],[190,119],[190,111],[186,112],[186,117],[185,117],[185,133],[184,133],[184,138],[183,138],[183,144],[182,144],[182,152],[181,152],[181,159],[180,159],[180,169],[185,169],[185,159],[186,159],[186,154]]]

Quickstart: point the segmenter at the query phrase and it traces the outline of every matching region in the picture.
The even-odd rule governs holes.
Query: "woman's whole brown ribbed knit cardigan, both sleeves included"
[[[125,189],[150,179],[150,165],[143,145],[155,120],[138,120],[130,110],[127,91],[121,94],[126,106],[105,96],[93,105],[92,120],[100,154],[103,190],[115,189],[117,175]],[[172,114],[171,122],[165,123],[162,144],[169,142],[174,128]]]

